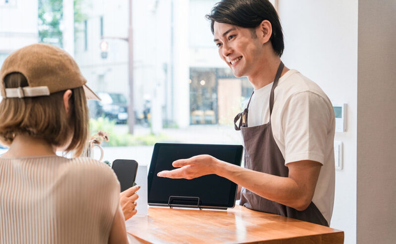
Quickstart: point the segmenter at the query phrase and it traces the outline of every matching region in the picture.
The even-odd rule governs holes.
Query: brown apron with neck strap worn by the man
[[[269,98],[269,122],[258,126],[247,127],[247,113],[251,99],[250,96],[246,109],[235,117],[234,124],[236,130],[242,130],[242,136],[245,142],[245,168],[281,177],[288,177],[289,168],[285,166],[285,159],[275,142],[271,127],[271,114],[274,106],[274,90],[282,74],[283,67],[284,65],[281,62],[276,73],[274,83],[272,84]],[[238,120],[240,122],[237,126]],[[246,188],[242,188],[240,204],[257,211],[278,214],[315,224],[329,226],[322,213],[312,202],[305,210],[298,211],[281,203],[276,203],[262,198]]]

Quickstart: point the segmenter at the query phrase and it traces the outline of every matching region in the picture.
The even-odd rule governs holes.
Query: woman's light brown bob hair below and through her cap
[[[4,78],[6,88],[27,85],[21,73],[11,73]],[[65,91],[49,96],[3,98],[0,103],[0,140],[9,146],[16,135],[26,134],[56,147],[66,147],[66,152],[74,151],[74,156],[80,156],[89,133],[88,106],[82,86],[71,90],[69,115],[63,104]]]

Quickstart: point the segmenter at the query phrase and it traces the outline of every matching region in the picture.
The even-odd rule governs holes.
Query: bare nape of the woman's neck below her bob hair
[[[56,148],[47,141],[28,135],[16,135],[2,157],[34,157],[56,155]]]

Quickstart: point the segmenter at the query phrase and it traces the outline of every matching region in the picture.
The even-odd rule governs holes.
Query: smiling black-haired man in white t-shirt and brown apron
[[[179,168],[158,176],[217,174],[242,187],[240,204],[247,208],[329,226],[335,188],[329,98],[284,67],[282,28],[268,0],[223,0],[207,18],[220,57],[254,87],[235,118],[245,142],[245,168],[199,155],[175,161]]]

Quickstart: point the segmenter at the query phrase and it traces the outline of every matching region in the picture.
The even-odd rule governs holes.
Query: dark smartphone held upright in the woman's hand
[[[136,173],[138,172],[138,162],[135,160],[117,159],[111,164],[111,168],[117,175],[121,185],[121,192],[136,185]]]

